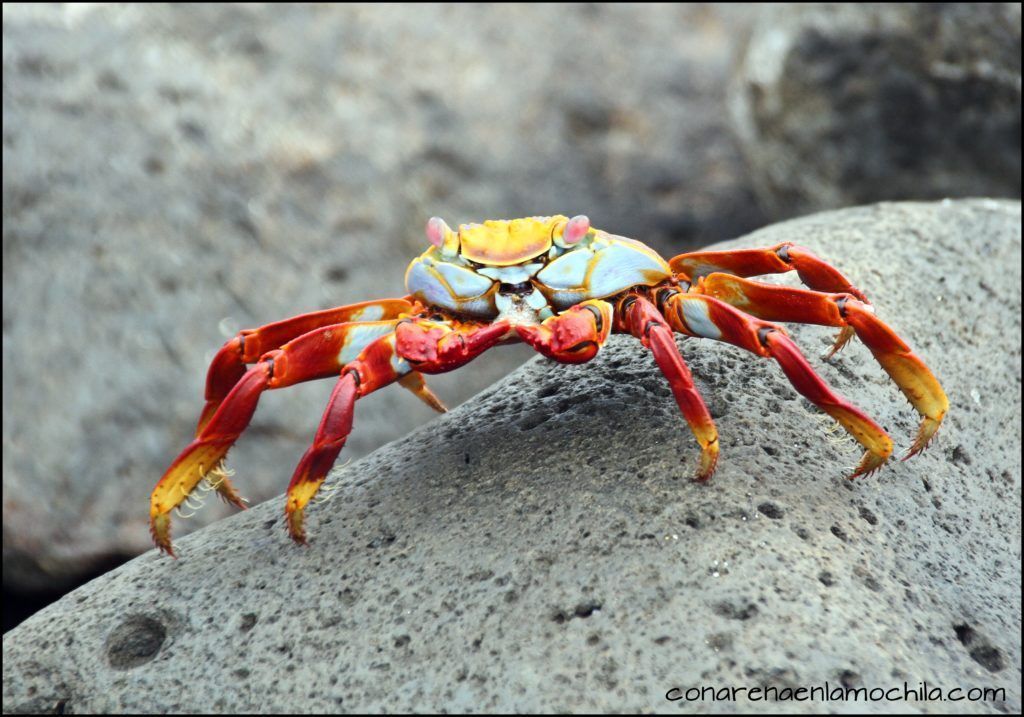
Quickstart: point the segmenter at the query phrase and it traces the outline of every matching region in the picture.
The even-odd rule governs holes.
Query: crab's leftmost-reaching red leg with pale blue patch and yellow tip
[[[220,466],[228,449],[249,425],[264,390],[337,376],[341,367],[358,355],[364,346],[391,332],[396,324],[395,320],[326,326],[264,353],[234,383],[196,439],[174,459],[153,490],[150,529],[157,546],[173,555],[170,512],[211,473],[216,476],[211,483],[221,497],[245,507]]]

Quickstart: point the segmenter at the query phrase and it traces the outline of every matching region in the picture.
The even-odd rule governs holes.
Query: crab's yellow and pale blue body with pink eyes
[[[565,216],[428,225],[436,245],[406,271],[409,293],[422,302],[474,319],[502,313],[501,294],[525,298],[540,318],[672,277],[646,245],[590,228]],[[577,236],[579,234],[579,236]]]

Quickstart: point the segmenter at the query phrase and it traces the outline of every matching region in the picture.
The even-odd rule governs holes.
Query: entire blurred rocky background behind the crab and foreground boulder
[[[224,339],[402,294],[433,214],[585,212],[671,255],[1020,196],[1019,5],[4,5],[3,48],[5,629],[10,598],[150,547]],[[431,383],[455,405],[527,356]],[[330,389],[261,399],[231,457],[251,500]],[[346,455],[430,418],[377,393]]]

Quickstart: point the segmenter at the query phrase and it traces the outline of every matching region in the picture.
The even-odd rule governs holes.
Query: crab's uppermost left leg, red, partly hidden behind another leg
[[[398,319],[402,313],[412,312],[416,308],[416,304],[409,299],[364,301],[323,311],[302,313],[258,329],[243,329],[217,351],[217,355],[210,363],[210,370],[206,376],[206,406],[196,426],[196,435],[203,432],[203,428],[213,418],[220,402],[245,375],[246,364],[255,364],[267,351],[280,348],[288,341],[314,329],[347,322]]]

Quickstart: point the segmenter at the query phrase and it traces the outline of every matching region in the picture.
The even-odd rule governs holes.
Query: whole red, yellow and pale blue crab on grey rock
[[[854,335],[870,349],[921,415],[904,460],[929,444],[949,407],[932,372],[876,315],[864,293],[795,244],[698,251],[666,261],[641,242],[592,227],[583,215],[487,220],[458,230],[433,217],[426,235],[430,246],[406,271],[408,296],[243,330],[217,352],[196,437],[151,498],[151,532],[162,551],[174,555],[170,514],[197,488],[245,507],[224,459],[263,391],[337,379],[312,445],[288,487],[288,532],[305,544],[306,506],[345,445],[358,398],[397,383],[443,412],[424,374],[458,369],[510,342],[525,342],[555,362],[582,364],[597,355],[611,333],[635,336],[653,354],[700,446],[697,480],[715,472],[718,431],[675,333],[724,341],[774,360],[800,393],[863,447],[851,478],[881,468],[893,441],[836,394],[773,322],[838,328],[829,357]],[[796,271],[808,288],[750,279],[787,271]]]

